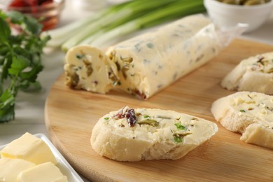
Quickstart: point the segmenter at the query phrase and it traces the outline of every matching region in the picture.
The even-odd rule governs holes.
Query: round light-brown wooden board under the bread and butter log
[[[216,122],[211,103],[233,93],[219,85],[222,78],[241,59],[269,51],[273,46],[233,41],[211,62],[147,101],[118,90],[106,95],[71,90],[64,85],[62,74],[45,103],[50,139],[74,169],[92,181],[273,181],[273,151],[245,144],[240,134],[218,123],[214,137],[180,160],[116,162],[100,157],[90,146],[97,120],[125,105],[169,109]]]

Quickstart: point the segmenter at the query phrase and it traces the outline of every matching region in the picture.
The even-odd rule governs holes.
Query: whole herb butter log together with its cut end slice
[[[117,87],[141,99],[148,99],[208,62],[220,49],[211,21],[203,15],[191,15],[113,45],[106,51],[106,57],[90,45],[72,48],[67,52],[64,66],[66,85],[99,93]],[[92,52],[99,52],[99,55],[103,55],[101,57],[109,60],[104,64],[105,71],[92,71],[86,76],[86,70],[78,69],[79,66],[85,66],[85,57],[92,57],[92,65],[97,64],[94,62],[102,63],[97,53]],[[102,67],[97,69],[93,66],[92,70],[100,70]]]

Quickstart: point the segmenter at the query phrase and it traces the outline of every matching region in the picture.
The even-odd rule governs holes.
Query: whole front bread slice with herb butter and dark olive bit
[[[125,106],[99,119],[91,145],[118,161],[177,160],[217,131],[215,123],[184,113]]]

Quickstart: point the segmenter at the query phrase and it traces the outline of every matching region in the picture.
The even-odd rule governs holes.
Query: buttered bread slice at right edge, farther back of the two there
[[[273,94],[273,52],[242,60],[221,85],[228,90]]]

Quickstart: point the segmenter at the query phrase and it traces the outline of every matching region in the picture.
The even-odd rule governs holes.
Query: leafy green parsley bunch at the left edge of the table
[[[11,26],[18,26],[20,33],[13,34]],[[19,90],[41,89],[36,78],[43,70],[43,47],[50,40],[40,38],[42,26],[30,16],[0,10],[0,123],[15,118]]]

